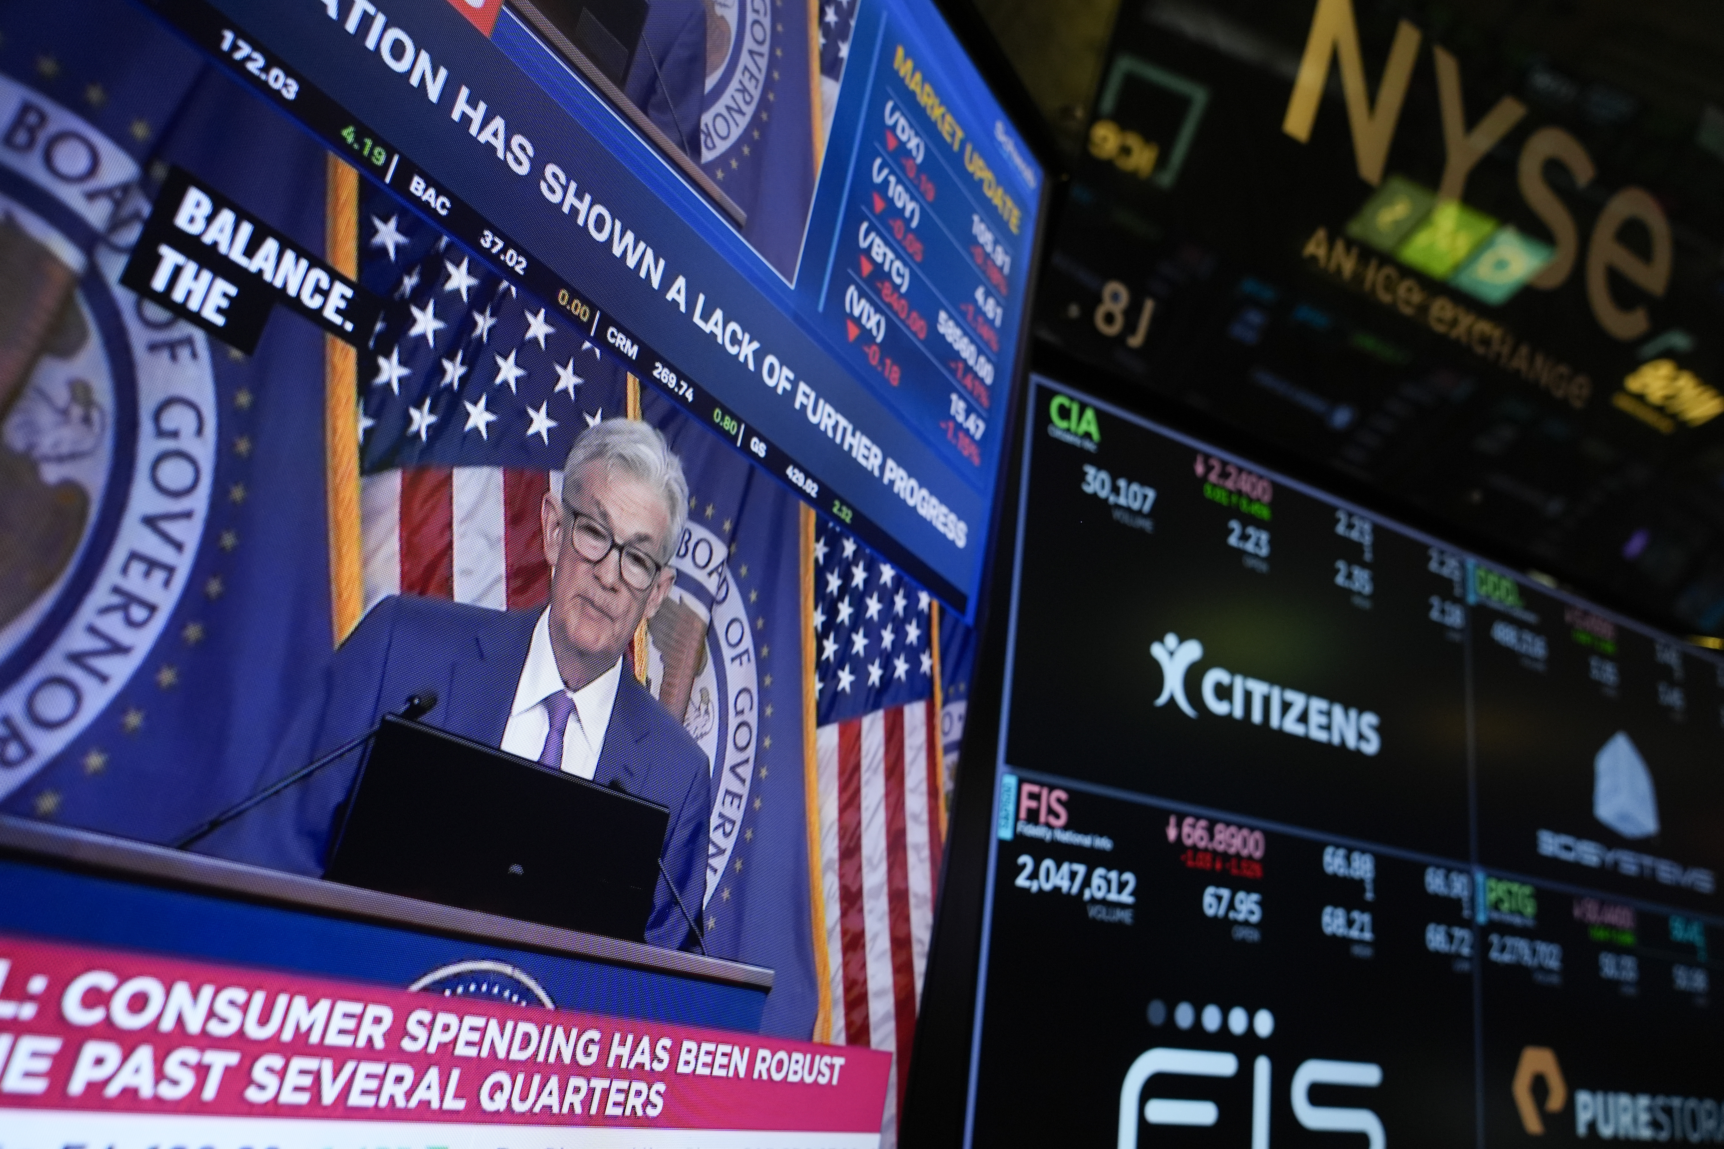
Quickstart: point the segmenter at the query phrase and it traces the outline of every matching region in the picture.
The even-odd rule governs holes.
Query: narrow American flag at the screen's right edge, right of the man
[[[836,525],[810,558],[831,1040],[896,1053],[902,1104],[943,841],[938,606]]]

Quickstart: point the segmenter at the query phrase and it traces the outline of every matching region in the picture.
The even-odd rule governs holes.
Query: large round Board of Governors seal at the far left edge
[[[119,288],[138,164],[0,76],[0,798],[155,644],[209,513],[209,345]]]

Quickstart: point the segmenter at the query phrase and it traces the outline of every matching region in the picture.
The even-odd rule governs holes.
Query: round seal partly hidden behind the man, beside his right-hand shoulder
[[[728,565],[724,539],[696,522],[671,565],[676,586],[646,625],[646,677],[659,701],[707,755],[707,892],[719,887],[741,832],[753,784],[760,689],[753,627]]]

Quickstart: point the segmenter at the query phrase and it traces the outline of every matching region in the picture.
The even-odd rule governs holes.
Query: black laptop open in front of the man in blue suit
[[[671,813],[386,717],[324,879],[638,942]]]

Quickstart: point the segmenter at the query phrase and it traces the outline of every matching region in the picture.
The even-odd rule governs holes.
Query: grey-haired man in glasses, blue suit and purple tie
[[[422,722],[671,811],[665,872],[690,915],[705,889],[707,760],[634,675],[622,653],[676,581],[671,555],[688,517],[688,481],[664,436],[603,420],[576,439],[562,494],[540,508],[550,605],[497,612],[397,596],[378,603],[336,651],[267,779],[283,777],[434,691]],[[357,761],[331,767],[212,835],[202,849],[322,873],[333,822]],[[571,885],[581,877],[569,875]],[[681,947],[688,923],[664,877],[646,941]]]

